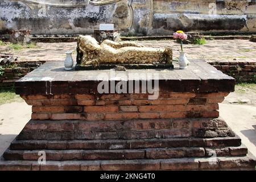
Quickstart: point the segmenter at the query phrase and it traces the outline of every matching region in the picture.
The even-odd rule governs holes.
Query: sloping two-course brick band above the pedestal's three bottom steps
[[[220,118],[213,119],[136,119],[129,121],[34,121],[18,140],[150,139],[180,137],[234,137]]]

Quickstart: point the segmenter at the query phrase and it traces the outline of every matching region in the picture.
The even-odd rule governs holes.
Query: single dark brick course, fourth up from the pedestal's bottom
[[[115,131],[115,132],[24,132],[22,131],[17,140],[106,140],[106,139],[153,139],[153,138],[215,138],[215,137],[234,137],[231,130],[212,130],[212,129],[162,129],[147,131]]]

